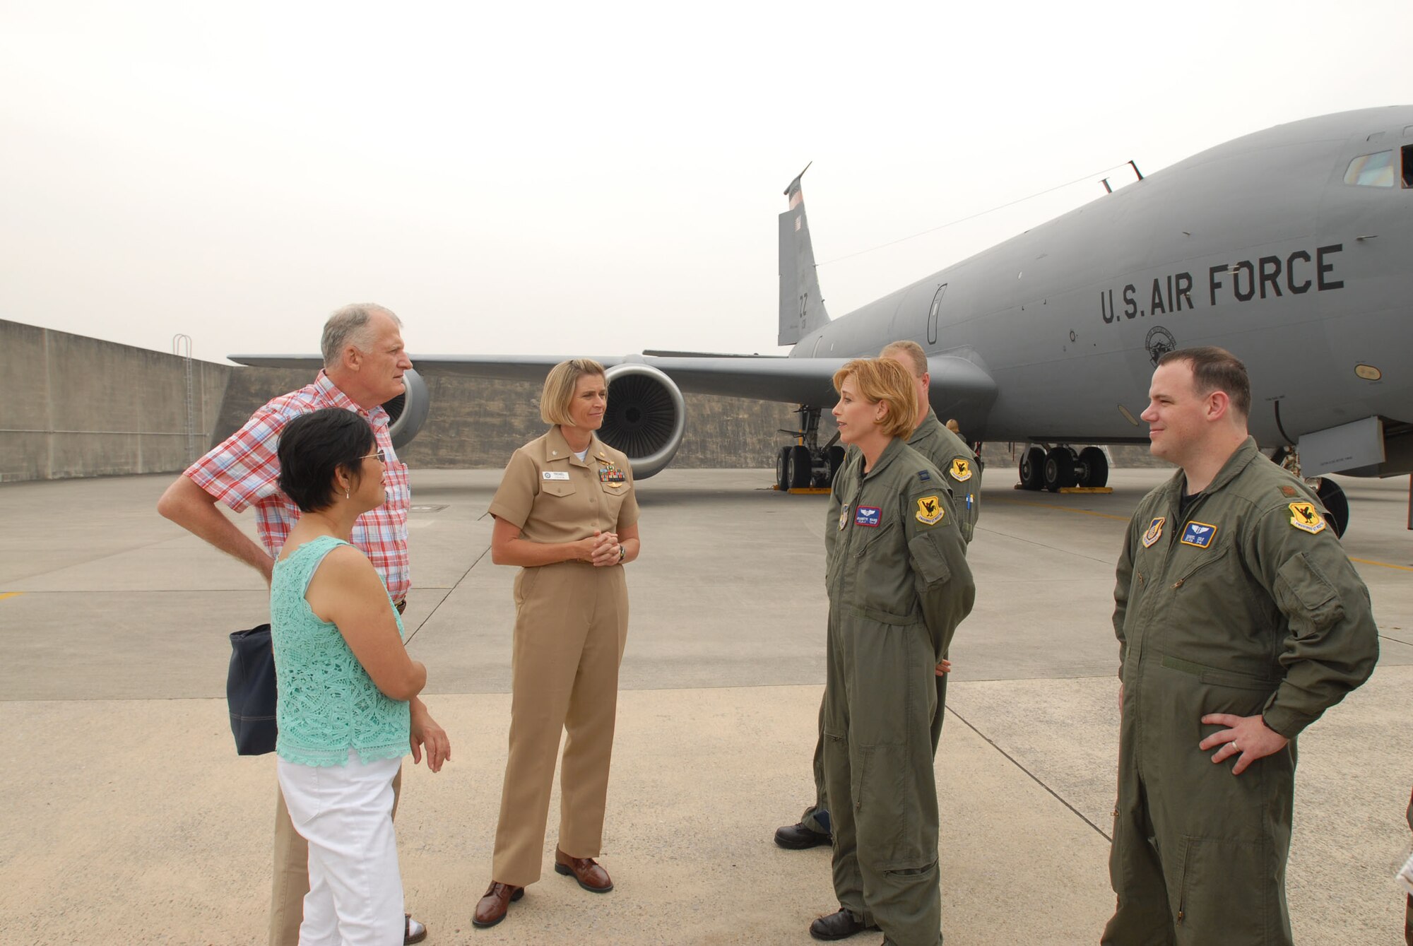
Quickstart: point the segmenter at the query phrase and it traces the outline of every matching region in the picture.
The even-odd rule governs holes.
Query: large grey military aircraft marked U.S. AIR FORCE
[[[911,339],[941,417],[978,443],[1029,445],[1024,489],[1102,486],[1095,445],[1147,442],[1139,415],[1157,359],[1219,345],[1246,363],[1251,431],[1277,459],[1307,477],[1413,470],[1413,106],[1280,124],[1139,178],[831,319],[797,176],[779,217],[788,356],[603,357],[601,436],[647,477],[681,445],[682,391],[784,401],[801,422],[776,457],[779,484],[828,484],[842,450],[820,443],[820,415],[835,370]],[[541,380],[562,356],[414,360],[427,373]],[[427,387],[406,377],[389,405],[396,442],[427,419]],[[1342,524],[1338,486],[1323,480],[1321,494]]]

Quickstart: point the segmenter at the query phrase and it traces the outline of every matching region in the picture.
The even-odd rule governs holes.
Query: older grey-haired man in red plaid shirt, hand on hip
[[[266,582],[284,546],[300,508],[280,491],[276,449],[280,431],[294,417],[319,408],[355,411],[373,428],[386,460],[387,503],[365,513],[353,525],[353,545],[360,548],[387,585],[397,610],[406,607],[411,576],[407,561],[407,510],[411,489],[407,465],[397,460],[389,435],[389,417],[380,405],[404,391],[403,373],[413,367],[403,350],[401,322],[379,305],[349,305],[324,325],[324,370],[312,384],[283,394],[246,421],[225,443],[196,460],[177,477],[157,504],[157,511],[195,532],[213,546],[252,566]],[[216,508],[225,503],[235,513],[256,510],[260,545]],[[263,546],[263,548],[261,548]],[[420,699],[411,700],[413,761],[435,772],[451,758],[447,733],[432,720]],[[401,774],[393,781],[393,810],[401,791]],[[294,830],[284,795],[278,796],[274,830],[274,885],[270,902],[270,946],[295,946],[309,890],[308,846]],[[427,929],[407,918],[407,943],[421,942]]]

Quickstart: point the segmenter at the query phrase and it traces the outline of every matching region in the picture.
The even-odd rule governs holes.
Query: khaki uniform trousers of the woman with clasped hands
[[[490,875],[540,880],[560,736],[560,850],[598,857],[627,641],[623,566],[560,562],[516,576],[510,751]]]

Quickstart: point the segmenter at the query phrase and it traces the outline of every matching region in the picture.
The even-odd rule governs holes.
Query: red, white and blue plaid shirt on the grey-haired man
[[[326,407],[355,411],[366,418],[373,426],[373,439],[387,457],[383,480],[387,503],[357,518],[353,545],[373,562],[393,600],[401,600],[413,583],[407,561],[407,510],[413,504],[407,465],[400,463],[393,452],[387,411],[380,407],[365,411],[324,371],[314,384],[283,394],[256,411],[225,443],[192,463],[187,476],[235,513],[254,505],[260,544],[276,558],[300,518],[300,507],[280,490],[280,459],[276,455],[280,431],[291,418]]]

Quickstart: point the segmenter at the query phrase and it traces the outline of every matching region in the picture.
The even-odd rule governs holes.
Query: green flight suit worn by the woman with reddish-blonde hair
[[[894,946],[938,946],[934,668],[975,585],[947,480],[901,441],[852,452],[825,521],[824,774],[839,904]]]

